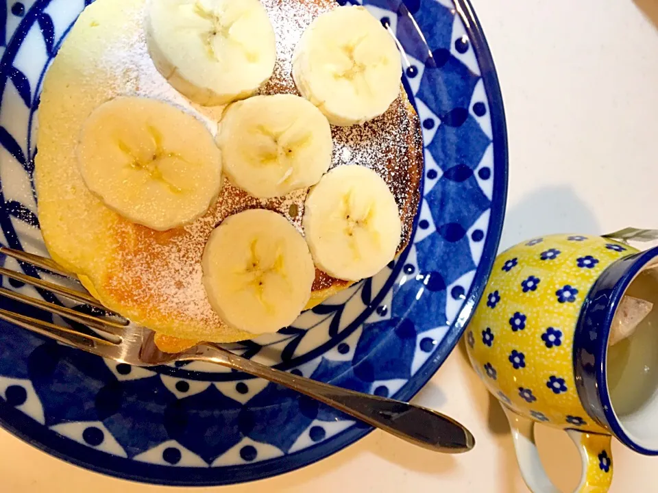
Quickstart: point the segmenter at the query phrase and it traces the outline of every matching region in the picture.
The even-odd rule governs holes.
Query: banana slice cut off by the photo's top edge
[[[158,71],[201,105],[249,97],[274,70],[274,29],[258,0],[151,0],[146,31]]]

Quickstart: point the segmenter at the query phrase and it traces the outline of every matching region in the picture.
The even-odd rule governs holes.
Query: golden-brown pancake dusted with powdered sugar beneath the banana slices
[[[78,18],[45,77],[38,114],[35,163],[38,215],[54,260],[80,276],[99,300],[163,336],[234,342],[254,334],[228,327],[212,310],[202,285],[201,258],[221,221],[249,208],[282,214],[302,233],[304,198],[297,190],[256,199],[225,179],[215,205],[194,223],[154,231],[108,209],[84,185],[75,145],[87,116],[119,95],[167,101],[190,112],[217,134],[223,108],[204,108],[176,92],[147,54],[145,0],[97,0]],[[304,29],[337,6],[332,0],[263,0],[277,36],[278,60],[260,94],[298,94],[291,58]],[[408,244],[419,203],[422,131],[404,90],[389,110],[363,126],[332,127],[332,166],[361,164],[382,176],[402,218],[398,252]],[[350,282],[316,270],[308,307]]]

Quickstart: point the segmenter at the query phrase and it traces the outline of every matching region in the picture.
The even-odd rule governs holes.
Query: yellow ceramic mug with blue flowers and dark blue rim
[[[467,351],[509,418],[533,492],[558,491],[539,460],[536,422],[564,429],[578,445],[578,492],[608,490],[612,435],[658,454],[657,263],[658,248],[640,252],[580,234],[535,238],[498,256],[466,330]],[[620,303],[634,295],[650,312],[628,340],[609,347]]]

